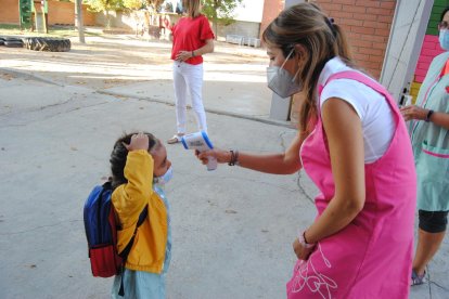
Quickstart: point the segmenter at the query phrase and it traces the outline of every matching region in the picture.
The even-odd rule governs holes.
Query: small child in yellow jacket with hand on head
[[[162,190],[172,173],[167,151],[152,134],[132,133],[116,141],[110,161],[112,202],[121,225],[119,252],[131,239],[140,213],[147,209],[121,273],[125,298],[165,298],[171,249],[169,205]],[[121,275],[114,280],[113,298],[123,298],[118,295]]]

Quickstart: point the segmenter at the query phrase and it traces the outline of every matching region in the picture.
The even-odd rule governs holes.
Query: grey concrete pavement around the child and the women
[[[264,121],[270,93],[264,67],[255,68],[256,75],[224,80],[230,70],[220,75],[217,67],[205,83],[218,147],[278,152],[295,135],[279,126],[285,123]],[[0,68],[0,298],[107,298],[112,280],[90,274],[82,205],[108,176],[112,145],[124,131],[172,134],[171,82],[100,90],[29,74]],[[246,75],[254,80],[236,82]],[[195,128],[192,113],[189,128]],[[208,172],[182,146],[167,151],[175,169],[166,191],[174,227],[168,298],[284,298],[295,261],[291,243],[315,217],[308,178],[228,166]],[[431,282],[413,287],[410,298],[449,298],[448,256],[446,238],[429,265]]]

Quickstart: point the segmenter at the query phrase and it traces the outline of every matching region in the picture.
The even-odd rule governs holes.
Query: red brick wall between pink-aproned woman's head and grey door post
[[[396,0],[318,0],[346,32],[355,61],[380,78]]]

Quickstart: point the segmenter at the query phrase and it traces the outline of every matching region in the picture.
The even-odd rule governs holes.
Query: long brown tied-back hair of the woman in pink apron
[[[303,86],[306,101],[302,105],[300,130],[309,132],[309,120],[318,114],[316,99],[318,78],[328,61],[339,56],[347,65],[355,67],[349,46],[342,28],[333,23],[318,5],[299,3],[284,10],[271,22],[262,34],[269,47],[282,50],[284,57],[296,44],[305,50],[305,65],[297,76]]]

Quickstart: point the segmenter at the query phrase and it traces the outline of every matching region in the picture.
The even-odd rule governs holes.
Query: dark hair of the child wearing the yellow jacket
[[[126,158],[128,157],[128,150],[125,147],[124,143],[129,144],[131,142],[131,136],[134,134],[137,134],[137,132],[125,134],[114,144],[114,150],[111,153],[110,158],[113,188],[128,182],[125,178],[125,165]],[[147,132],[144,132],[144,134],[149,136],[149,152],[161,145],[159,141],[153,134]]]

